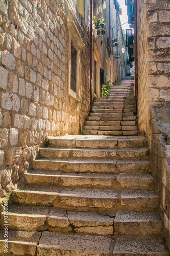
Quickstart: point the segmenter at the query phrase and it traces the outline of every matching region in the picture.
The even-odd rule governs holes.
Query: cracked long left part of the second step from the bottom
[[[103,214],[105,213],[64,211],[54,207],[11,205],[8,208],[8,229],[113,235],[114,218]]]

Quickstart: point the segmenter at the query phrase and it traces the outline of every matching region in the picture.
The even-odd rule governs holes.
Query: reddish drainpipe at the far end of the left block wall
[[[90,0],[90,112],[92,112],[92,1]]]

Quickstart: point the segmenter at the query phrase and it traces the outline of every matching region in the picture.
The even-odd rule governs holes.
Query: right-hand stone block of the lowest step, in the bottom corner
[[[118,237],[113,256],[169,256],[164,239]]]

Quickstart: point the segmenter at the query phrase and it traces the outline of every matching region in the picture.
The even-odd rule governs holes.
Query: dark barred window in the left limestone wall
[[[71,44],[71,89],[76,93],[77,82],[77,51]]]

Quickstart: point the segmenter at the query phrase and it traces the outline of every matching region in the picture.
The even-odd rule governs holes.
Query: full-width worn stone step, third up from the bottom
[[[159,198],[153,190],[73,189],[56,186],[30,186],[14,189],[14,204],[52,206],[81,211],[154,211]]]

